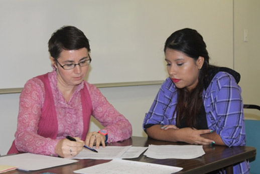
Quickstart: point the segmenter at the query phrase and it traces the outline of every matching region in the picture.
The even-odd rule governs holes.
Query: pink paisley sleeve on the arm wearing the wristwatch
[[[132,135],[132,125],[106,100],[95,85],[86,82],[92,100],[93,117],[103,126],[108,133],[107,142],[122,141]]]

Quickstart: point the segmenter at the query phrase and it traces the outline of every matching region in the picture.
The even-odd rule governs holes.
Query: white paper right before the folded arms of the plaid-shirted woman
[[[202,145],[149,145],[145,155],[155,159],[192,159],[204,155]]]

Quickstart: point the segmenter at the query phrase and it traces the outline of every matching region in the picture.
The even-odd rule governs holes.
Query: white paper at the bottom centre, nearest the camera
[[[87,174],[170,174],[182,170],[181,167],[153,164],[148,162],[131,161],[124,159],[113,159],[98,165],[75,170],[75,173]]]

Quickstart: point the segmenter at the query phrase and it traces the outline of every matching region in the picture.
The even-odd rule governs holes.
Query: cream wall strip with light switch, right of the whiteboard
[[[244,41],[244,29],[248,41]],[[260,106],[260,1],[234,1],[234,69],[241,74],[239,85],[244,104]],[[245,109],[246,119],[260,120],[260,111]]]

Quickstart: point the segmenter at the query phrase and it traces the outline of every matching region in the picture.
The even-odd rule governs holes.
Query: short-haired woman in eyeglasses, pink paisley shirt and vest
[[[128,139],[132,126],[95,85],[84,80],[91,62],[84,33],[73,26],[54,32],[48,42],[53,71],[28,80],[20,95],[18,126],[8,154],[30,152],[76,156],[83,145]],[[104,128],[88,132],[90,116]],[[70,141],[66,136],[74,137]]]

